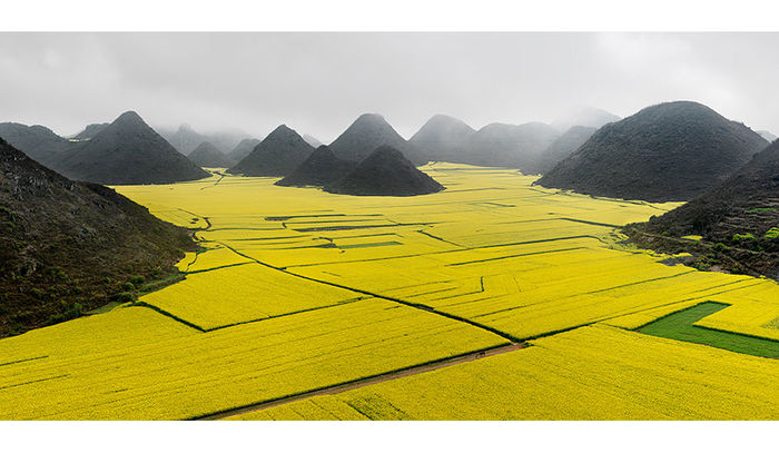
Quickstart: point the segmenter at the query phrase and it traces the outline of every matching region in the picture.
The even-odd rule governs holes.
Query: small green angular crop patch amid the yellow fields
[[[728,306],[728,304],[718,302],[704,302],[661,317],[643,327],[639,327],[638,332],[663,338],[719,347],[741,354],[779,358],[779,342],[777,341],[693,325],[697,321]]]

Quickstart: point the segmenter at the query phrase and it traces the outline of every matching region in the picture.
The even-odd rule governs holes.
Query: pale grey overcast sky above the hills
[[[779,33],[0,33],[0,121],[61,135],[136,110],[152,126],[279,124],[328,142],[377,112],[408,138],[703,102],[779,132]]]

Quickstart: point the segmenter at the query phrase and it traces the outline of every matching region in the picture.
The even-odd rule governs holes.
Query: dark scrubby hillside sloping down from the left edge
[[[127,302],[194,248],[184,228],[0,140],[0,337]]]

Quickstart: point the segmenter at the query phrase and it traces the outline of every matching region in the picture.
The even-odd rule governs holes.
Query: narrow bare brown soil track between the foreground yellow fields
[[[334,395],[336,393],[342,393],[351,391],[354,388],[364,387],[366,385],[378,384],[381,382],[393,381],[401,377],[412,376],[420,373],[427,373],[440,368],[445,368],[447,366],[461,364],[464,362],[471,362],[479,358],[491,357],[493,355],[505,354],[512,351],[517,351],[527,347],[525,343],[511,343],[509,345],[491,347],[487,349],[481,349],[463,355],[457,355],[454,357],[442,358],[438,361],[428,362],[422,365],[410,366],[407,368],[395,370],[388,373],[378,374],[375,376],[363,377],[356,381],[345,382],[343,384],[331,385],[323,388],[313,390],[309,392],[303,392],[295,395],[284,396],[276,400],[269,400],[262,403],[248,404],[240,407],[229,408],[226,411],[215,412],[213,414],[207,414],[198,416],[191,420],[220,420],[227,418],[234,415],[245,414],[248,412],[262,411],[268,407],[280,406],[283,404],[292,403],[295,401],[307,400],[314,396],[322,395]]]

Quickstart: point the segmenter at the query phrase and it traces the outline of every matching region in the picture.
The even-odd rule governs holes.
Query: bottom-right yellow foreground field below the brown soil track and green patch
[[[777,420],[779,362],[608,326],[239,420]]]

